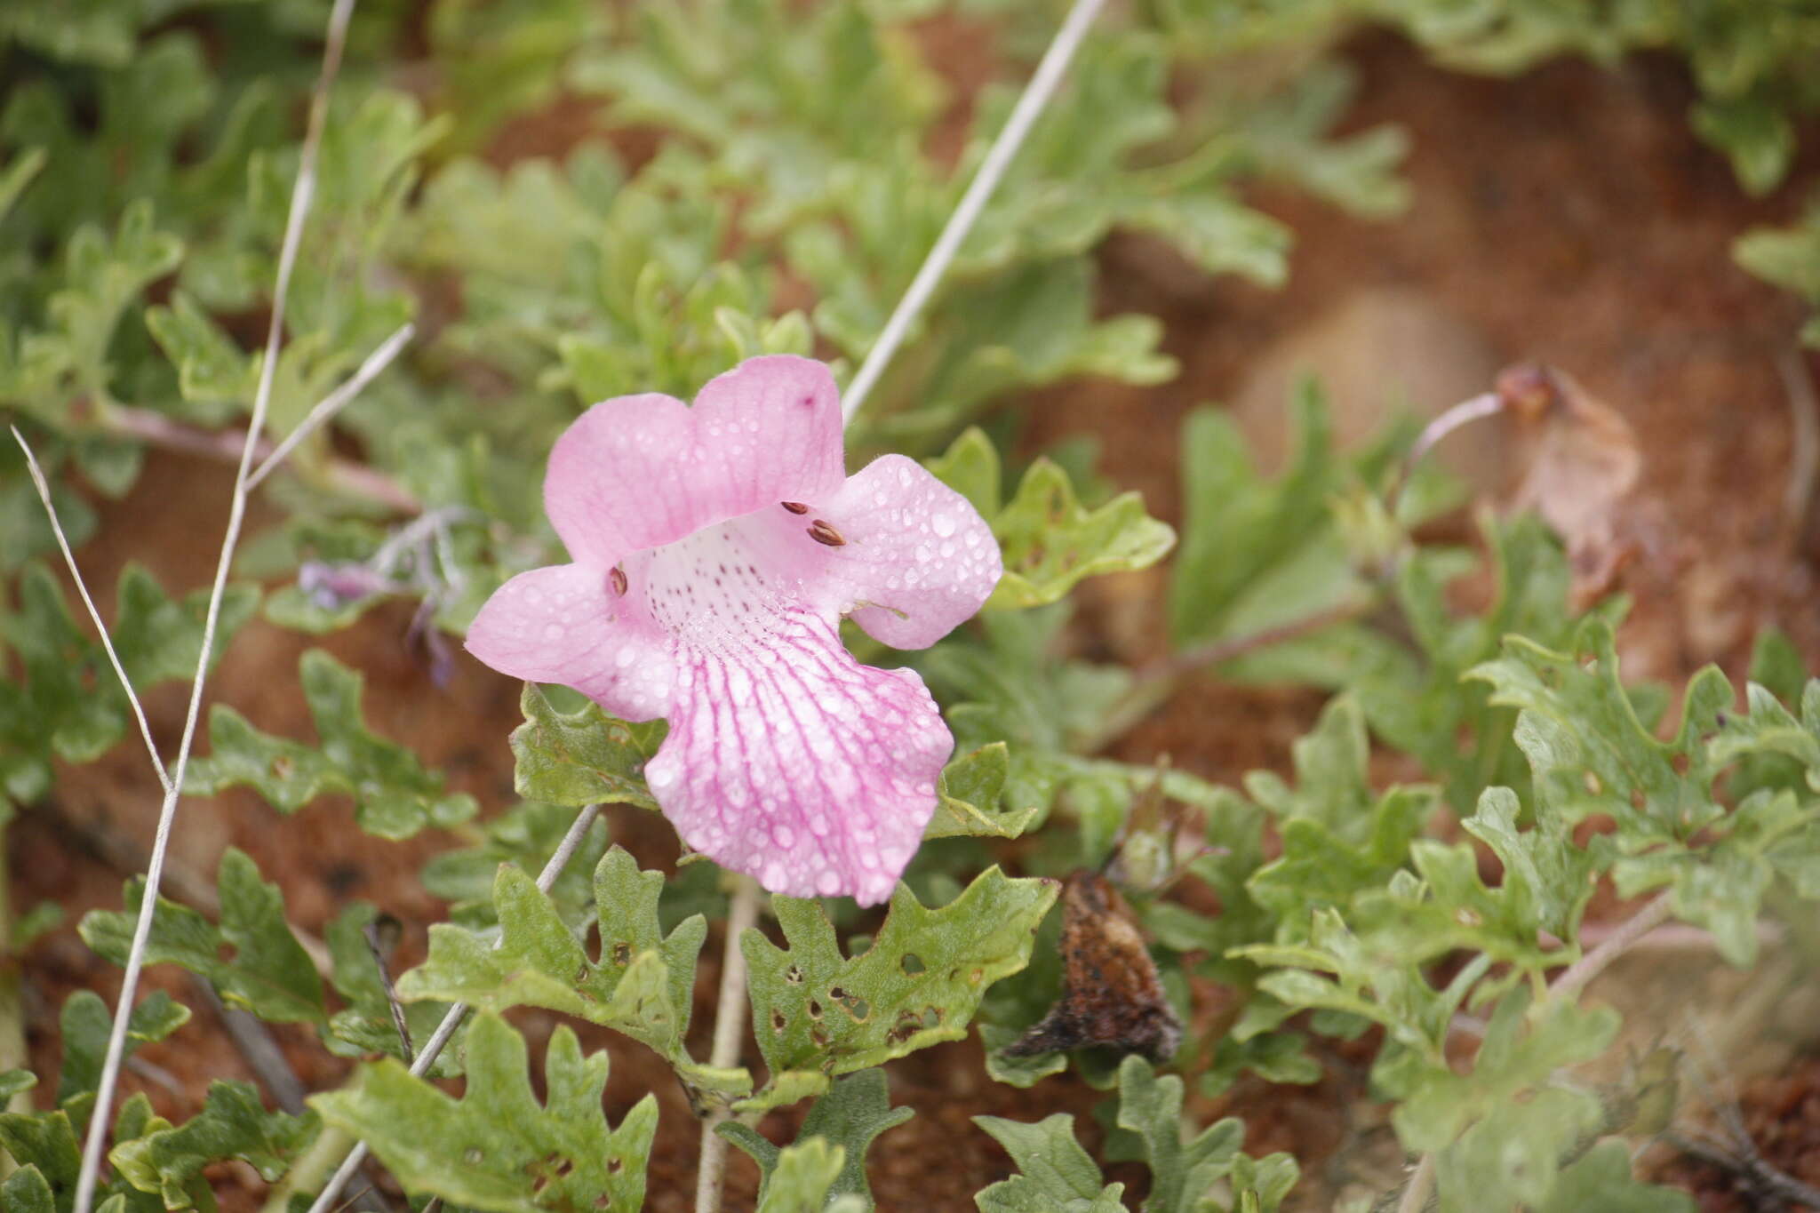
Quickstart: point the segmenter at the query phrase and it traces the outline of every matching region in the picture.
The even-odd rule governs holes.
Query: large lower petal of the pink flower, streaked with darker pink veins
[[[886,900],[954,751],[923,680],[857,664],[803,607],[677,664],[670,737],[644,767],[677,833],[774,893]]]

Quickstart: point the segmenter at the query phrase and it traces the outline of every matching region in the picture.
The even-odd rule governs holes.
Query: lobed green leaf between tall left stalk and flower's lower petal
[[[346,793],[360,827],[380,838],[410,838],[426,826],[450,827],[473,817],[473,797],[446,791],[442,777],[424,769],[410,747],[368,731],[362,675],[309,649],[300,678],[318,749],[260,733],[217,704],[209,711],[209,753],[189,764],[184,789],[213,795],[249,786],[280,813],[295,813],[324,793]]]

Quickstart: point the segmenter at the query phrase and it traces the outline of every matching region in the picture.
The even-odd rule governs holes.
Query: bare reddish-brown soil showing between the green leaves
[[[957,111],[992,71],[990,55],[966,35],[966,27],[946,24],[925,29],[937,49],[972,47],[934,56],[961,85]],[[1281,291],[1208,280],[1147,240],[1110,240],[1101,253],[1103,311],[1159,315],[1181,376],[1148,389],[1083,380],[1016,402],[1028,409],[1032,447],[1094,435],[1103,473],[1141,489],[1152,513],[1179,522],[1178,453],[1168,436],[1183,416],[1199,404],[1243,395],[1261,362],[1281,360],[1305,335],[1330,327],[1349,298],[1394,291],[1434,318],[1434,331],[1458,340],[1403,349],[1374,338],[1380,329],[1369,322],[1356,326],[1341,340],[1350,353],[1345,382],[1332,384],[1338,407],[1349,407],[1345,387],[1354,380],[1370,382],[1409,358],[1460,353],[1445,346],[1474,346],[1483,351],[1474,356],[1498,364],[1542,358],[1560,366],[1636,427],[1643,493],[1660,509],[1667,542],[1631,575],[1636,609],[1622,637],[1627,675],[1680,682],[1716,660],[1738,678],[1751,638],[1765,624],[1784,627],[1809,657],[1820,653],[1813,553],[1800,538],[1805,518],[1791,516],[1784,500],[1793,471],[1793,406],[1776,358],[1795,347],[1800,307],[1731,260],[1738,233],[1789,222],[1820,182],[1820,131],[1805,133],[1807,153],[1789,184],[1749,200],[1729,165],[1689,133],[1694,93],[1673,60],[1629,58],[1614,69],[1562,62],[1514,80],[1487,80],[1431,67],[1385,35],[1360,36],[1343,55],[1361,85],[1347,125],[1396,122],[1410,135],[1409,213],[1365,222],[1289,189],[1256,193],[1254,202],[1296,233]],[[542,122],[515,124],[499,158],[559,153],[584,131],[571,105],[557,105]],[[206,584],[229,484],[218,466],[149,458],[135,491],[102,509],[100,535],[82,553],[93,584],[111,586],[129,556],[166,586]],[[1163,647],[1163,586],[1159,573],[1090,586],[1074,640],[1099,657],[1156,657]],[[510,804],[506,733],[519,722],[517,686],[462,655],[453,682],[435,689],[426,664],[404,642],[408,615],[377,609],[326,647],[366,673],[368,717],[379,733],[440,764],[482,806]],[[235,704],[264,729],[311,737],[289,675],[306,647],[304,638],[248,626],[228,651],[211,700]],[[1201,680],[1125,738],[1119,757],[1168,753],[1178,766],[1218,780],[1238,780],[1259,766],[1285,769],[1289,744],[1320,704],[1309,691]],[[166,687],[147,707],[169,751],[182,726],[184,687]],[[118,989],[118,969],[87,951],[75,924],[91,907],[120,906],[120,884],[149,846],[157,807],[144,757],[122,744],[100,764],[62,771],[53,802],[11,829],[15,904],[55,900],[66,911],[64,926],[22,958],[33,1066],[42,1075],[56,1073],[56,1007],[64,998],[98,989],[111,1000]],[[642,864],[673,860],[673,837],[659,818],[619,807],[608,820],[615,840]],[[344,802],[329,798],[280,818],[249,795],[229,795],[184,806],[173,864],[213,873],[229,844],[280,882],[291,918],[304,929],[320,933],[348,898],[377,902],[399,917],[406,924],[400,964],[420,958],[428,926],[444,917],[415,873],[451,846],[448,837],[377,844],[353,827]],[[719,951],[715,931],[697,984],[699,1055],[710,1035]],[[182,973],[155,967],[146,980],[197,1002]],[[555,1017],[521,1015],[517,1022],[537,1040]],[[309,1033],[277,1029],[277,1037],[309,1089],[346,1078],[349,1062],[324,1053]],[[697,1133],[668,1068],[621,1037],[586,1029],[582,1037],[590,1049],[612,1049],[610,1117],[617,1120],[646,1091],[661,1102],[646,1208],[693,1208]],[[126,1089],[144,1089],[173,1118],[200,1108],[209,1080],[253,1078],[206,1009],[173,1042],[140,1057],[151,1068],[127,1075]],[[1400,1160],[1394,1146],[1387,1153],[1381,1109],[1363,1098],[1367,1060],[1363,1053],[1336,1053],[1329,1077],[1314,1088],[1245,1080],[1218,1102],[1199,1100],[1194,1111],[1207,1118],[1243,1115],[1252,1151],[1294,1151],[1309,1175],[1298,1208],[1327,1208],[1360,1182],[1396,1182]],[[972,1193],[1010,1173],[1010,1160],[970,1124],[972,1115],[1036,1120],[1067,1111],[1077,1117],[1088,1148],[1099,1144],[1090,1117],[1099,1093],[1074,1077],[1030,1091],[997,1086],[981,1069],[977,1040],[926,1049],[888,1073],[894,1102],[915,1109],[915,1118],[886,1133],[870,1155],[874,1191],[886,1213],[970,1209]],[[40,1086],[40,1095],[51,1088]],[[1749,1086],[1744,1106],[1771,1162],[1820,1180],[1820,1064],[1791,1066]],[[775,1113],[763,1128],[788,1140],[801,1111]],[[1709,1169],[1673,1164],[1669,1175],[1698,1191],[1709,1211],[1747,1208]],[[1141,1168],[1128,1164],[1110,1166],[1108,1178],[1125,1180],[1128,1197],[1145,1186]],[[264,1184],[244,1168],[220,1168],[211,1180],[226,1213],[255,1209],[264,1195]],[[752,1208],[755,1184],[755,1169],[733,1151],[726,1208]],[[395,1200],[395,1191],[388,1195]]]

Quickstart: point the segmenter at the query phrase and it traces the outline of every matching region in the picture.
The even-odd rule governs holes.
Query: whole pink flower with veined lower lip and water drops
[[[588,409],[550,453],[544,509],[575,564],[521,573],[468,651],[624,720],[666,717],[646,764],[677,833],[792,897],[890,897],[954,737],[910,669],[861,666],[850,615],[921,649],[999,580],[977,511],[915,460],[846,476],[828,367],[766,356],[688,407]]]

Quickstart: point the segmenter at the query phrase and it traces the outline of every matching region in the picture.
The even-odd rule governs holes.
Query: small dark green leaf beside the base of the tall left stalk
[[[238,1158],[277,1182],[318,1128],[313,1115],[266,1111],[251,1082],[213,1082],[191,1120],[120,1142],[107,1160],[140,1191],[158,1193],[166,1209],[207,1209],[213,1202],[193,1197],[202,1168]]]

